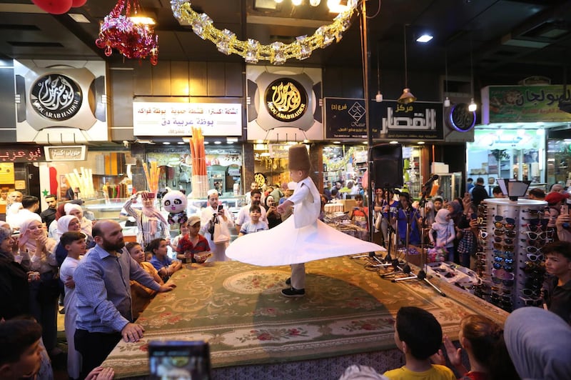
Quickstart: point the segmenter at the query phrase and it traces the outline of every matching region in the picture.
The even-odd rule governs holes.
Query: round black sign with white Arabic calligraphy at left
[[[36,112],[54,121],[64,121],[77,114],[82,99],[79,85],[61,74],[41,76],[30,94],[30,103]]]

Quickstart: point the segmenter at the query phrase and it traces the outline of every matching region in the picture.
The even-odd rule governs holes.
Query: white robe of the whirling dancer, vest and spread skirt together
[[[298,182],[289,200],[295,205],[293,216],[273,229],[241,236],[228,246],[226,256],[247,264],[276,266],[385,251],[318,220],[321,199],[310,178]]]

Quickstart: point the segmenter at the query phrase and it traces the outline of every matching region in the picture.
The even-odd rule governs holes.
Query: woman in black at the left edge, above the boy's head
[[[18,240],[12,230],[0,227],[0,319],[29,313],[28,271],[30,256],[15,260],[18,254]]]

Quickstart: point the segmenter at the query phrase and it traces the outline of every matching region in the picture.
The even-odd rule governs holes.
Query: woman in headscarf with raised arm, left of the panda
[[[138,195],[141,195],[143,200],[143,208],[141,210],[133,209],[133,201],[137,199]],[[148,191],[137,191],[133,194],[125,204],[123,204],[123,209],[127,211],[127,214],[133,216],[137,221],[137,242],[141,246],[146,246],[153,239],[162,238],[167,241],[171,240],[171,227],[161,211],[153,207],[153,202],[155,200],[155,194],[149,193]]]

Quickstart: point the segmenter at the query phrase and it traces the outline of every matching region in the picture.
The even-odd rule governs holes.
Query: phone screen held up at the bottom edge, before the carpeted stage
[[[151,379],[211,379],[206,341],[151,341],[148,365]]]

